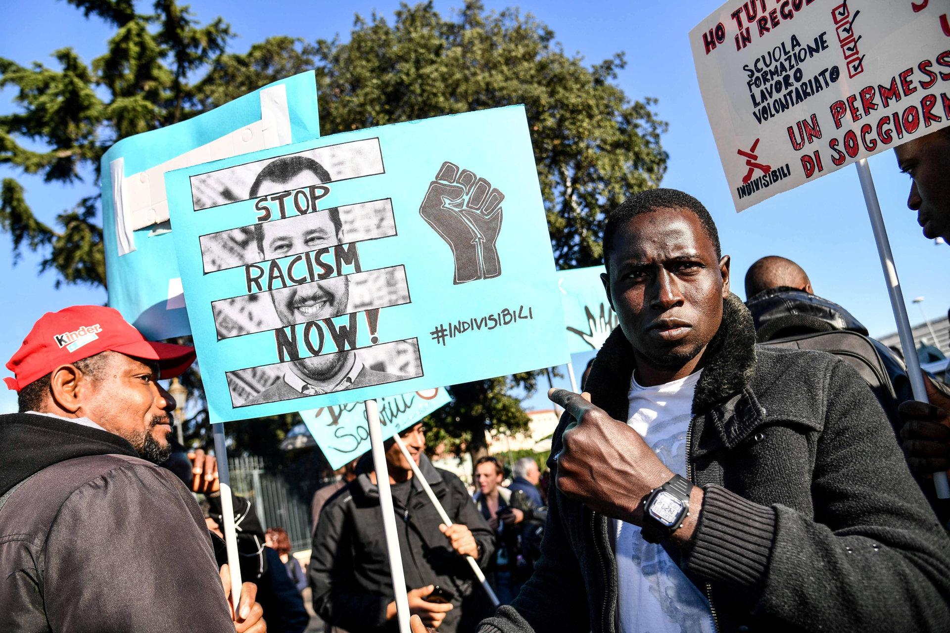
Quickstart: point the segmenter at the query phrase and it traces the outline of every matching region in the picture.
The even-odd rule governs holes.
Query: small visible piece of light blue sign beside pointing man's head
[[[558,271],[567,346],[572,354],[597,351],[617,327],[617,314],[600,282],[604,271],[602,266]]]

